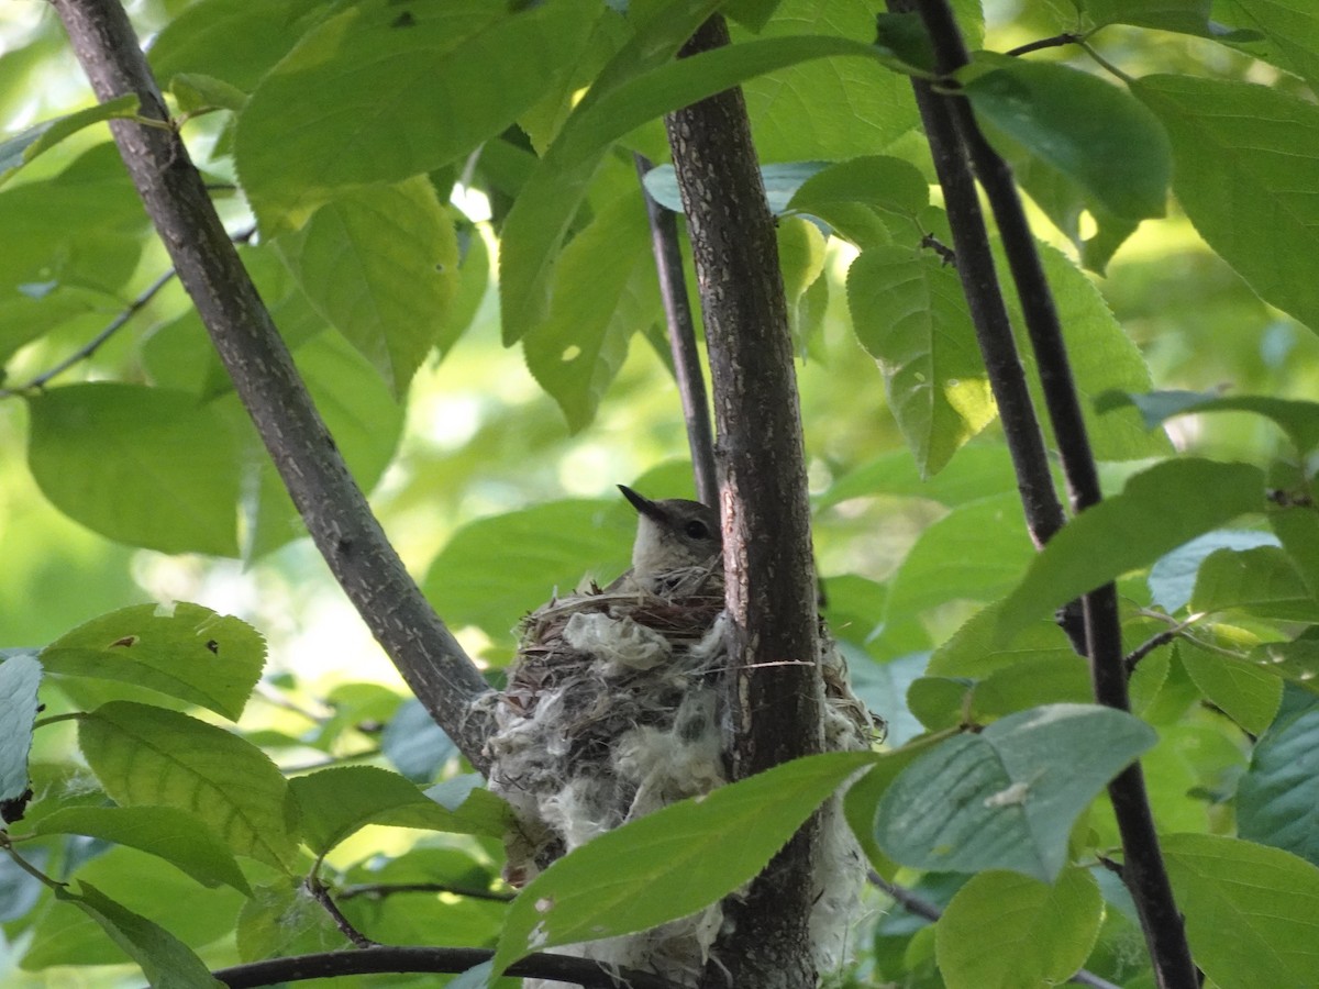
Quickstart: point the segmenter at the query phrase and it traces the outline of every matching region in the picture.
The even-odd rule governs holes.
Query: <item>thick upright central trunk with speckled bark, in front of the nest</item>
[[[721,18],[682,54],[728,44]],[[793,348],[773,219],[740,90],[667,120],[704,314],[731,617],[732,774],[819,752],[810,508]],[[785,662],[789,661],[789,662]],[[807,662],[801,662],[807,661]],[[728,901],[708,985],[815,985],[807,938],[815,824]]]

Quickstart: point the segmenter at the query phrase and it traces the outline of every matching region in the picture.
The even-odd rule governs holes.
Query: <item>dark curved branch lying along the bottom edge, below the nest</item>
[[[212,972],[230,989],[256,989],[280,982],[301,982],[309,978],[335,978],[380,973],[466,972],[495,952],[485,948],[396,948],[377,945],[363,951],[326,951],[317,955],[298,955],[269,961],[252,961]],[[584,989],[683,989],[667,978],[629,968],[611,968],[603,961],[574,959],[567,955],[539,952],[528,955],[509,965],[513,978],[549,978],[583,986]]]

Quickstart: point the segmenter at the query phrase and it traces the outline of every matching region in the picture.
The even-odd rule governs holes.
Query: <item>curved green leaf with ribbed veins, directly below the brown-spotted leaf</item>
[[[288,783],[239,736],[174,711],[115,700],[79,719],[78,742],[116,803],[182,807],[239,854],[277,869],[291,862]]]

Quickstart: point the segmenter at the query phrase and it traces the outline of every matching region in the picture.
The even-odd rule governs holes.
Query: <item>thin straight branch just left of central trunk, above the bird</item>
[[[687,423],[687,447],[696,483],[696,498],[714,508],[719,504],[719,477],[715,473],[715,433],[710,425],[710,400],[706,378],[700,373],[700,351],[696,328],[687,302],[687,280],[682,273],[682,251],[678,247],[678,222],[656,202],[645,186],[646,173],[654,167],[642,154],[634,154],[641,195],[650,220],[650,249],[660,273],[660,298],[669,322],[669,348],[673,351],[673,373],[678,381],[682,415]]]

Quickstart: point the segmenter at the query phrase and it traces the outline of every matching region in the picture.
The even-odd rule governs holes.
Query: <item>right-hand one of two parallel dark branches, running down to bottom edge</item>
[[[934,44],[939,73],[947,75],[964,66],[969,54],[947,0],[919,0],[918,8]],[[1099,469],[1086,433],[1053,291],[1045,278],[1012,169],[980,133],[966,99],[951,96],[947,105],[998,224],[1026,332],[1035,352],[1045,405],[1058,439],[1071,501],[1076,510],[1084,510],[1101,498]],[[1126,711],[1130,705],[1116,588],[1108,584],[1086,595],[1082,609],[1095,699]],[[1108,793],[1122,836],[1122,877],[1140,913],[1157,984],[1163,989],[1195,989],[1199,978],[1163,866],[1140,764],[1119,774],[1109,783]]]

